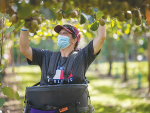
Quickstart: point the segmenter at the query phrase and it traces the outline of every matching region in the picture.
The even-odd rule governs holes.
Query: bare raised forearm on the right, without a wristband
[[[96,55],[101,49],[106,38],[106,27],[99,24],[97,36],[93,40],[94,54]]]

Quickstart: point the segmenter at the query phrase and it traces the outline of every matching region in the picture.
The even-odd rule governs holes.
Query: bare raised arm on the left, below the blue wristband
[[[21,31],[20,33],[20,51],[26,58],[32,61],[32,49],[29,47],[29,30]]]

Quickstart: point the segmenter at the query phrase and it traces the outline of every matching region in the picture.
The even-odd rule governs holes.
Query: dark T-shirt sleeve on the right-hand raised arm
[[[97,57],[100,51],[101,49],[96,55],[94,55],[93,40],[85,48],[83,48],[83,52],[85,55],[84,57],[85,57],[87,66],[89,66],[94,61],[94,59]]]

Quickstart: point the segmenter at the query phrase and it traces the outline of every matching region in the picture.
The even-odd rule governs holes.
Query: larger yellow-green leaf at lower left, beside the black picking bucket
[[[19,94],[17,92],[14,92],[12,88],[4,86],[3,88],[1,88],[1,90],[3,94],[8,98],[19,100]]]

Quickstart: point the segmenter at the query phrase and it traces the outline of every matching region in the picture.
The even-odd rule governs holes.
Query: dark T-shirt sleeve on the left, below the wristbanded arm
[[[44,49],[32,48],[32,61],[27,58],[29,65],[39,65],[42,66],[43,56],[45,54]]]

